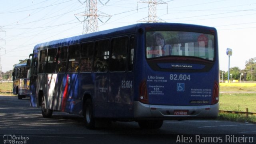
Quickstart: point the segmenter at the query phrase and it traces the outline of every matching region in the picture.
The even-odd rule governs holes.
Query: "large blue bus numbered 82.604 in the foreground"
[[[29,57],[30,104],[97,120],[216,118],[219,108],[215,28],[144,23],[38,44]]]

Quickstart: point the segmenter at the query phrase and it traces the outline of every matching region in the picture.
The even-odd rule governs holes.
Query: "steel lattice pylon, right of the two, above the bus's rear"
[[[162,20],[161,18],[156,16],[156,5],[158,4],[167,4],[166,2],[162,0],[140,0],[140,3],[148,3],[148,16],[146,18],[142,18],[141,20],[138,20],[138,22],[166,22],[165,20]],[[138,10],[138,8],[137,8]],[[167,8],[168,10],[168,8]],[[146,20],[148,18],[148,20]]]

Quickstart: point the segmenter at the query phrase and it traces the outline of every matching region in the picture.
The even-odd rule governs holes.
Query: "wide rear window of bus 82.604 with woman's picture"
[[[182,31],[146,32],[146,58],[193,56],[214,60],[214,35]]]

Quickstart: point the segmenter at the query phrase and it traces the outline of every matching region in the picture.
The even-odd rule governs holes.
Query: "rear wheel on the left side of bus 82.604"
[[[94,119],[93,110],[92,110],[92,100],[89,98],[84,103],[83,115],[84,115],[84,122],[85,122],[86,128],[94,129],[95,128],[95,119]]]

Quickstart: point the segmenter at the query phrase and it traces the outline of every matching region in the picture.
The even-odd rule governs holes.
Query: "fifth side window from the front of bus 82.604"
[[[82,44],[80,72],[92,72],[93,42]]]

